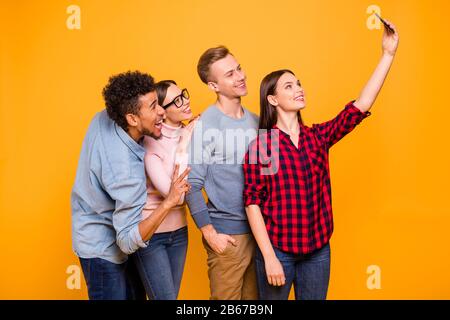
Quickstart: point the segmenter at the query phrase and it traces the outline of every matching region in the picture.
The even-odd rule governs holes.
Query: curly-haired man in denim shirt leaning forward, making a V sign
[[[103,89],[106,110],[84,138],[72,189],[73,249],[80,259],[90,299],[145,298],[128,255],[145,248],[170,209],[189,190],[189,168],[174,170],[167,198],[142,219],[147,189],[144,136],[161,136],[164,109],[153,77],[126,72]]]

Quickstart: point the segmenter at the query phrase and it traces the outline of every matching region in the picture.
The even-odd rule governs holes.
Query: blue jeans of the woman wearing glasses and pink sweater
[[[188,245],[188,229],[155,233],[134,254],[136,267],[151,300],[176,300]]]

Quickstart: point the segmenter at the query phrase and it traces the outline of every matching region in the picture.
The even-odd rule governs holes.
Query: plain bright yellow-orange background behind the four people
[[[81,30],[66,8],[81,8]],[[243,104],[259,111],[262,77],[296,72],[307,124],[356,98],[381,54],[376,4],[400,47],[372,116],[333,147],[335,233],[330,299],[449,299],[450,2],[2,1],[0,10],[0,298],[85,299],[66,287],[70,190],[81,142],[112,74],[139,69],[214,101],[200,54],[227,45],[248,75]],[[206,256],[192,220],[180,298],[207,299]],[[369,265],[381,289],[366,286]]]

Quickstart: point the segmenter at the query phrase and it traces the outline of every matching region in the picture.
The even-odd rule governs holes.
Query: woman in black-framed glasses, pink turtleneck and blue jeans
[[[144,138],[145,170],[147,174],[147,204],[143,218],[147,218],[168,195],[176,166],[183,172],[196,119],[192,119],[189,92],[181,90],[175,81],[156,84],[158,103],[166,111],[161,137]],[[180,289],[188,245],[186,206],[184,198],[167,214],[146,248],[134,254],[147,296],[151,300],[175,300]]]

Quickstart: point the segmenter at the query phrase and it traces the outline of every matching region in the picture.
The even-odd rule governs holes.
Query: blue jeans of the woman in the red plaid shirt
[[[262,300],[287,300],[294,284],[296,300],[325,300],[330,279],[330,245],[307,255],[291,254],[273,248],[283,266],[286,283],[276,287],[267,281],[264,258],[259,248],[255,263],[258,291]]]

